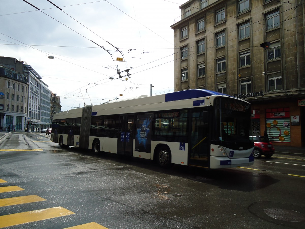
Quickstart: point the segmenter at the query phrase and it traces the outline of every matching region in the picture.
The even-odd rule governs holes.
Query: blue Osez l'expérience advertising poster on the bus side
[[[135,151],[150,153],[152,114],[137,115]]]

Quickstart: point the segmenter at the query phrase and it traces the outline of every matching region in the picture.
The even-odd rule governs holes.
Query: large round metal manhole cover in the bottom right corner
[[[289,222],[304,222],[305,216],[302,213],[287,210],[287,209],[281,209],[281,208],[267,208],[264,209],[264,212],[277,220],[284,220]]]

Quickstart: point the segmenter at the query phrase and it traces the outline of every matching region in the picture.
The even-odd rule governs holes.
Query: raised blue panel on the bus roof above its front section
[[[206,97],[211,95],[226,95],[216,91],[209,91],[205,89],[189,89],[184,91],[177,91],[172,93],[165,94],[165,102],[176,101],[176,100],[185,100]],[[228,96],[228,95],[226,95]]]

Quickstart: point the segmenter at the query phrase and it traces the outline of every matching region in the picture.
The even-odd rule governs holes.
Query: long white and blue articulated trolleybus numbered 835
[[[140,96],[53,116],[51,140],[203,168],[253,165],[250,104],[203,89]]]

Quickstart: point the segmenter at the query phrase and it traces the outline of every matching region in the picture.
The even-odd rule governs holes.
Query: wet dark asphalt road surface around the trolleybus
[[[0,204],[28,195],[45,201],[0,205],[0,227],[8,215],[60,206],[74,214],[8,228],[305,228],[304,165],[304,157],[274,155],[245,168],[165,170],[61,149],[43,133],[13,133],[0,141]],[[24,190],[1,192],[9,186]]]

